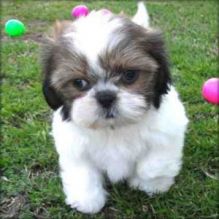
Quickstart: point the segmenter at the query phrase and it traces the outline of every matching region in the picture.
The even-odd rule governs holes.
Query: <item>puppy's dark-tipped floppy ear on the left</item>
[[[43,66],[43,94],[48,105],[56,110],[63,105],[62,97],[51,83],[53,71],[57,68],[58,40],[69,26],[70,21],[56,21],[49,37],[43,41],[41,62]]]

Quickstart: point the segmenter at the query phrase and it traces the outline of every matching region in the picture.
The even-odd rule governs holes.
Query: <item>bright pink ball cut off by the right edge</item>
[[[212,104],[219,104],[219,78],[211,78],[204,83],[202,96]]]

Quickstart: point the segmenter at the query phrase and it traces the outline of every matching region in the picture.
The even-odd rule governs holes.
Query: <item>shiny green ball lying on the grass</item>
[[[11,19],[5,23],[5,32],[10,37],[22,36],[25,31],[24,24],[19,20]]]

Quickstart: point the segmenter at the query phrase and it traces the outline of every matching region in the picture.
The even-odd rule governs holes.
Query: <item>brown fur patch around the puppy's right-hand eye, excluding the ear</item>
[[[118,86],[144,95],[147,101],[151,100],[158,62],[147,51],[148,32],[125,20],[124,26],[115,34],[124,36],[123,40],[116,47],[108,48],[100,55],[99,61],[102,68],[109,73],[108,78],[118,79]],[[128,70],[137,71],[139,77],[133,84],[126,85],[119,78]]]

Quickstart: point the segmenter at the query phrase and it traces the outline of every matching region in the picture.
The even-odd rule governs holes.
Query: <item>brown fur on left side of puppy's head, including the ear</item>
[[[43,91],[53,109],[63,104],[70,105],[73,99],[83,95],[74,87],[75,79],[88,80],[86,58],[77,54],[74,45],[63,37],[71,24],[71,21],[57,21],[52,34],[43,43]]]

